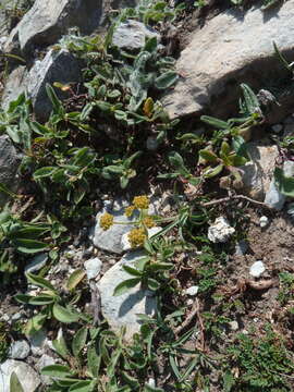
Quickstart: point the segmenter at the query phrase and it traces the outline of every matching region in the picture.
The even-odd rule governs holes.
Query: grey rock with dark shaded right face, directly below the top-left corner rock
[[[11,73],[4,88],[2,107],[7,109],[11,101],[26,91],[32,99],[37,119],[46,121],[52,110],[46,84],[52,85],[54,82],[68,84],[81,81],[81,64],[73,54],[64,49],[49,50],[42,60],[36,61],[29,72],[24,66],[20,66]],[[60,89],[56,91],[60,98],[65,97]]]

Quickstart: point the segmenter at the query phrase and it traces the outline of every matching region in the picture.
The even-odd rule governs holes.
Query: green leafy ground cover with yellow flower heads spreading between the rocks
[[[264,1],[262,7],[274,2]],[[205,5],[206,1],[194,4]],[[186,7],[143,1],[136,9],[113,13],[103,37],[66,36],[54,50],[65,47],[84,62],[83,86],[48,85],[52,112],[46,123],[36,121],[25,95],[0,113],[1,133],[24,155],[20,175],[25,184],[19,194],[1,185],[8,196],[0,213],[1,290],[16,294],[15,304],[37,309],[25,324],[0,323],[0,360],[15,336],[46,326],[54,336],[59,364],[42,369],[52,378],[44,391],[293,390],[293,271],[279,273],[274,323],[265,319],[255,326],[248,315],[259,290],[250,281],[228,285],[234,249],[207,238],[208,223],[220,216],[224,203],[230,204],[226,215],[235,241],[246,238],[247,211],[267,208],[238,195],[240,167],[249,159],[246,140],[262,127],[262,105],[250,86],[242,84],[240,113],[226,121],[204,115],[205,132],[196,133],[185,120],[171,121],[160,103],[162,91],[181,77],[173,53],[167,54],[157,38],[147,39],[137,52],[112,45],[113,32],[126,19],[164,30],[167,22],[183,17]],[[59,89],[66,99],[58,98]],[[156,147],[148,148],[146,140]],[[292,136],[275,142],[293,154]],[[292,181],[279,167],[275,177],[293,196]],[[174,208],[168,217],[147,213],[151,186],[172,192]],[[106,320],[97,322],[85,310],[90,289],[83,269],[76,269],[63,287],[46,279],[73,240],[74,228],[97,211],[97,188],[113,198],[128,195],[125,215],[138,213],[128,240],[133,248],[145,252],[134,268],[124,267],[130,279],[113,295],[139,283],[154,291],[158,302],[157,315],[142,315],[140,332],[127,344],[123,330],[114,334]],[[137,188],[144,194],[133,191]],[[111,215],[100,220],[105,230],[112,224],[119,222]],[[148,238],[154,225],[161,230]],[[48,265],[38,274],[24,273],[27,257],[45,249]],[[39,287],[36,296],[24,294],[28,283]],[[198,286],[192,305],[185,294],[189,285]],[[246,332],[232,330],[235,319]],[[14,375],[11,392],[21,391]]]

